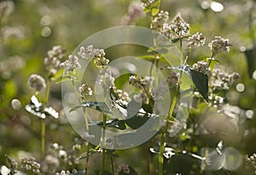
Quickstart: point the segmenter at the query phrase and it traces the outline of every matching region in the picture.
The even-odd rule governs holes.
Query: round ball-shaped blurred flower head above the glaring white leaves
[[[41,91],[46,88],[45,80],[38,74],[32,74],[27,81],[29,87],[34,88],[36,91]]]

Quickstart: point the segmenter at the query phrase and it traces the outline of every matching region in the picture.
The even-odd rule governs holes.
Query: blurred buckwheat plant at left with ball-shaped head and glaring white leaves
[[[61,73],[59,71],[59,65],[61,64],[61,59],[64,57],[65,50],[61,46],[55,46],[48,51],[48,56],[44,58],[44,65],[48,75],[46,80],[43,76],[38,74],[32,74],[27,81],[30,88],[35,90],[35,95],[32,95],[31,103],[26,104],[25,108],[34,116],[38,116],[42,120],[41,127],[41,161],[44,161],[45,154],[45,119],[46,116],[52,116],[55,119],[59,117],[58,112],[56,112],[52,107],[47,106],[49,101],[49,91],[51,82],[57,79],[57,76]],[[59,71],[59,72],[58,72]],[[40,102],[40,93],[45,93],[43,102]]]

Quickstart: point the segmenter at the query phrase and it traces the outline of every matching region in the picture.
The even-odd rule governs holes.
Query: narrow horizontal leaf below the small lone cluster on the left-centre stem
[[[77,110],[77,109],[79,109],[81,107],[93,108],[93,109],[98,110],[98,111],[100,111],[102,113],[112,114],[112,112],[108,108],[108,105],[105,102],[96,102],[96,101],[86,101],[86,102],[84,102],[83,104],[81,104],[79,106],[73,107],[71,110],[69,110],[69,112]]]

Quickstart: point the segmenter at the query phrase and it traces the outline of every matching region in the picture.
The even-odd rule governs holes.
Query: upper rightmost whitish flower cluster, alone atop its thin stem
[[[212,54],[216,55],[218,53],[229,53],[230,52],[230,40],[224,39],[223,37],[215,36],[212,42],[208,44],[212,50]]]

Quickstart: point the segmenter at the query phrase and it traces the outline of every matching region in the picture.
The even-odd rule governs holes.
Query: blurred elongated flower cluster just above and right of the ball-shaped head
[[[54,46],[48,51],[48,57],[44,58],[44,65],[49,75],[55,75],[57,69],[61,64],[61,59],[64,58],[66,50],[61,48],[61,46]]]

